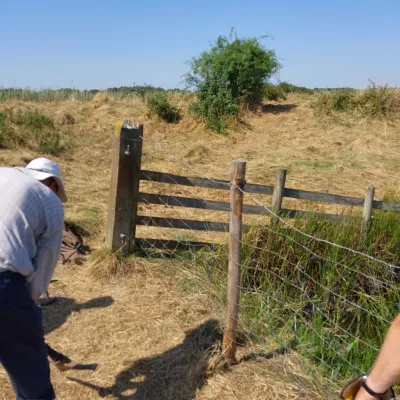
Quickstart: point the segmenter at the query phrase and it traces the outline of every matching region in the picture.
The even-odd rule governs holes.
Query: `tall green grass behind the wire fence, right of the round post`
[[[376,212],[367,238],[360,222],[293,223],[309,235],[398,265],[400,215]],[[375,348],[398,314],[400,270],[317,242],[283,224],[253,229],[243,242],[240,329],[259,341],[293,340],[297,352],[337,382],[368,371]],[[191,257],[202,279],[225,301],[228,247]]]

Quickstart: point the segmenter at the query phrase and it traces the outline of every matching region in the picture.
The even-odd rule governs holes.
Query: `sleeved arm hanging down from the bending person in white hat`
[[[36,268],[28,280],[32,298],[37,299],[46,292],[53,276],[54,269],[60,256],[62,234],[64,228],[64,215],[59,213],[48,218],[47,229],[39,238],[36,246],[37,253],[33,260]]]

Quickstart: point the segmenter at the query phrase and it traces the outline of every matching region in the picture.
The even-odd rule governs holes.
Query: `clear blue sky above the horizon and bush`
[[[400,85],[399,0],[0,0],[0,87],[177,87],[185,63],[234,27],[270,34],[278,78],[308,87]]]

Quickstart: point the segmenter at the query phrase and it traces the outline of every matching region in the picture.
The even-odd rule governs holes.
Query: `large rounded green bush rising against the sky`
[[[280,67],[275,52],[257,38],[219,36],[209,51],[190,61],[188,88],[196,91],[193,110],[207,128],[224,133],[227,122],[239,116],[241,107],[258,106],[266,80]]]

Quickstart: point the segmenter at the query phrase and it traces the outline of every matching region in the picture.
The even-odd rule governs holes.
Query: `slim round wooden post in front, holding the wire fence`
[[[236,362],[236,330],[240,301],[240,266],[242,261],[242,210],[246,162],[232,165],[229,221],[228,311],[224,335],[224,354],[229,363]]]

